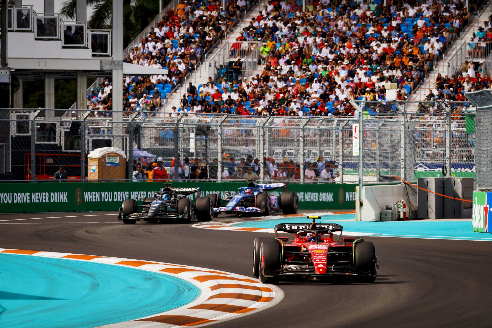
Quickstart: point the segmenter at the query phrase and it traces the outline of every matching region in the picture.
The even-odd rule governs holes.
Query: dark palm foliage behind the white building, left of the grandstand
[[[168,2],[168,1],[167,1]],[[91,29],[111,29],[113,0],[87,0],[94,7],[87,24]],[[75,20],[76,0],[63,3],[60,13]],[[159,0],[123,0],[123,43],[131,42],[159,13]]]

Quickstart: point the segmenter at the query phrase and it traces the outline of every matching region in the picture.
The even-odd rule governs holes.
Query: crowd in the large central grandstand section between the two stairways
[[[399,100],[425,79],[470,19],[464,1],[268,1],[237,41],[257,42],[261,74],[198,88],[181,109],[189,115],[356,116],[349,100]],[[173,109],[174,111],[175,109]]]

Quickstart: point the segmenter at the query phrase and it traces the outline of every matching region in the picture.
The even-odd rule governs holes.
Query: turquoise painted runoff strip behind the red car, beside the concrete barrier
[[[265,221],[250,221],[234,224],[236,227],[274,228],[279,223],[306,223],[311,221],[305,216],[279,218]],[[338,223],[343,226],[343,234],[349,232],[357,235],[380,237],[407,237],[425,239],[459,239],[492,241],[492,234],[473,232],[470,221],[390,221],[390,222],[356,222],[355,214],[324,215],[319,223]]]

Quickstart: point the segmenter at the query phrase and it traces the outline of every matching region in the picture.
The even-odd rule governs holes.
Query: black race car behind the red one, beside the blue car
[[[140,198],[143,205],[137,205],[134,199],[125,199],[120,208],[118,220],[124,224],[135,224],[137,220],[158,223],[179,221],[190,223],[192,218],[198,221],[211,221],[214,217],[214,207],[209,196],[200,197],[201,188],[170,188],[166,185],[160,191],[154,192],[152,198]],[[195,202],[186,196],[197,194]]]

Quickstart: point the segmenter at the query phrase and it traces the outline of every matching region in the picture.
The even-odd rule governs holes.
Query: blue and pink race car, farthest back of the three
[[[284,188],[280,197],[268,193],[268,191],[279,188]],[[249,182],[247,187],[239,188],[234,195],[228,196],[226,199],[219,199],[217,194],[209,194],[208,196],[212,198],[215,217],[220,212],[225,212],[226,214],[257,213],[269,215],[282,211],[284,214],[295,214],[299,208],[299,199],[296,192],[288,191],[285,183]]]

